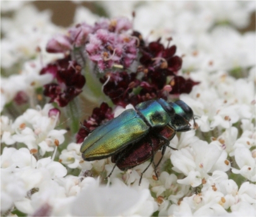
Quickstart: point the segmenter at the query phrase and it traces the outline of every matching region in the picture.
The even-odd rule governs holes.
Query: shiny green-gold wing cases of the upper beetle
[[[85,160],[99,160],[113,155],[149,132],[149,126],[133,109],[96,128],[83,141],[80,151]]]

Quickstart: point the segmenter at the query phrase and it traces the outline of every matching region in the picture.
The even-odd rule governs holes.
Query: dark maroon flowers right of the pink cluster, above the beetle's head
[[[112,72],[100,79],[104,84],[104,93],[115,105],[137,105],[155,98],[167,100],[169,94],[189,93],[198,84],[192,79],[186,80],[176,75],[181,69],[182,59],[174,56],[175,45],[164,48],[160,39],[146,45],[139,32],[133,32],[133,36],[138,38],[142,65],[138,66],[135,73]]]

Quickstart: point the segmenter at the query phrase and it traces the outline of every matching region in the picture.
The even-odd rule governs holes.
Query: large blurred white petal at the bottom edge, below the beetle
[[[147,189],[135,191],[121,186],[87,187],[74,201],[71,213],[75,216],[130,216],[143,206],[147,197]]]

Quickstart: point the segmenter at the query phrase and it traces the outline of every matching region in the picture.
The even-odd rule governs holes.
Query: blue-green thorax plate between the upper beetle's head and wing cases
[[[166,105],[168,105],[168,103],[166,103]],[[150,127],[163,127],[171,121],[168,112],[166,112],[162,105],[156,100],[140,103],[135,108]]]

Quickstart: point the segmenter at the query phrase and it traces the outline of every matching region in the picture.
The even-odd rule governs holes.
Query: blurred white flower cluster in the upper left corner
[[[45,47],[49,38],[60,31],[51,22],[50,11],[39,12],[32,4],[21,6],[14,11],[13,18],[1,19],[1,67],[8,69],[37,56],[37,48],[46,62],[58,57],[59,54],[47,54]]]

